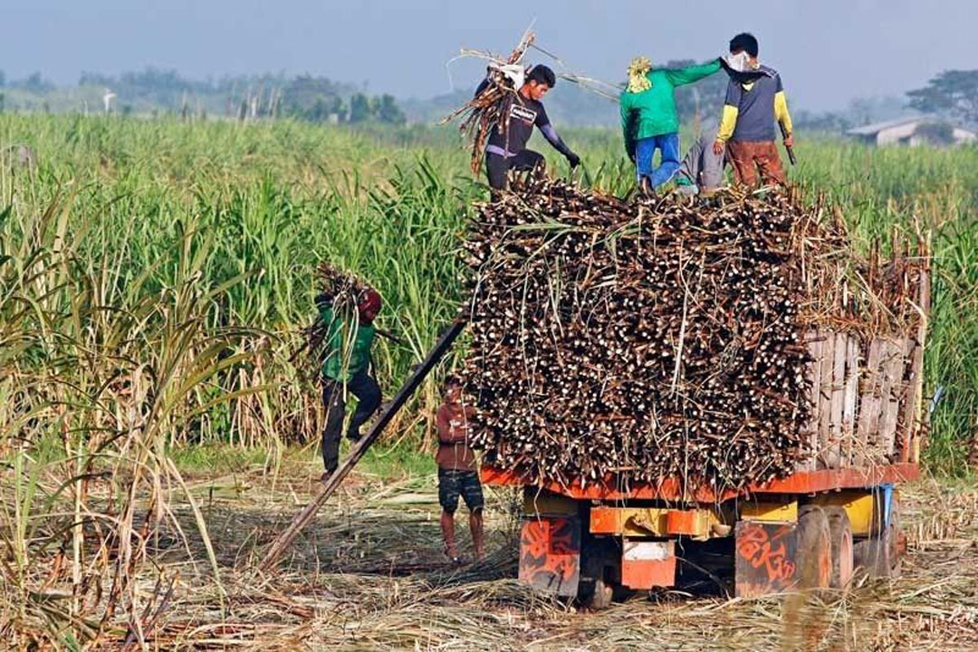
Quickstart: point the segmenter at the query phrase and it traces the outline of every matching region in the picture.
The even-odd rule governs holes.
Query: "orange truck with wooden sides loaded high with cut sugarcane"
[[[481,477],[523,488],[519,579],[594,606],[900,571],[928,248],[859,254],[784,191],[625,202],[530,181],[467,239]]]

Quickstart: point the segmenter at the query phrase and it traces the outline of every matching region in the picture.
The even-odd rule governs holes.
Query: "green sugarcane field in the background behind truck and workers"
[[[617,193],[630,187],[631,164],[615,131],[580,129],[565,136],[584,156],[576,178]],[[34,168],[8,162],[0,170],[8,206],[4,228],[18,237],[23,216],[42,212],[59,189],[70,188],[75,200],[69,228],[88,225],[85,264],[109,297],[123,296],[137,278],[150,294],[172,285],[182,255],[173,242],[188,232],[204,243],[196,254],[202,279],[221,283],[249,275],[207,311],[212,326],[272,333],[261,346],[274,349],[279,367],[248,369],[248,378],[239,373],[239,389],[255,377],[294,384],[293,370],[280,369],[279,354],[292,343],[289,333],[312,314],[312,270],[331,260],[378,285],[386,301],[381,324],[406,340],[378,345],[380,379],[391,391],[452,317],[459,298],[457,237],[470,202],[483,196],[467,173],[467,152],[449,128],[358,133],[288,121],[242,126],[4,115],[0,143],[27,145],[38,160]],[[534,145],[550,155],[553,169],[568,172],[546,144]],[[947,392],[934,413],[928,459],[961,469],[978,413],[978,365],[969,355],[978,344],[971,317],[978,302],[978,176],[971,172],[978,169],[978,152],[877,150],[826,139],[803,139],[797,149],[800,164],[792,177],[812,196],[843,208],[858,244],[885,241],[894,225],[910,229],[914,220],[933,229],[937,272],[928,393],[937,386]],[[232,381],[225,382],[232,389]],[[302,392],[285,391],[281,398],[290,407],[282,401],[251,406],[261,417],[248,422],[247,436],[236,431],[231,413],[215,413],[197,432],[171,437],[246,444],[273,436],[308,439],[317,426],[300,415],[312,410],[315,399],[304,393],[302,402]],[[430,409],[434,401],[429,384],[421,405]]]

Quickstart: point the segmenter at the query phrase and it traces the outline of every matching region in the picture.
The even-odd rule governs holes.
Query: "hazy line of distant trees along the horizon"
[[[670,61],[680,67],[691,61]],[[564,86],[564,82],[561,82]],[[195,80],[176,70],[147,67],[143,70],[107,75],[83,72],[78,79],[80,94],[59,89],[40,72],[21,79],[9,79],[0,70],[0,110],[26,107],[33,110],[101,110],[103,98],[111,94],[120,113],[136,111],[178,112],[196,115],[212,112],[229,117],[293,117],[310,122],[401,124],[406,111],[413,120],[432,121],[464,104],[470,90],[430,100],[414,100],[402,107],[391,95],[369,96],[351,84],[310,74],[287,76],[284,73],[224,76]],[[685,120],[715,121],[720,114],[727,76],[715,74],[697,84],[676,90],[676,105]],[[474,87],[474,83],[473,83]],[[617,111],[607,100],[584,93],[570,85],[548,98],[548,109],[561,123],[616,124]],[[790,89],[789,89],[790,94]],[[71,100],[69,97],[74,97]],[[27,98],[28,100],[24,100]],[[50,105],[49,105],[50,101]],[[74,104],[71,104],[71,103]],[[940,115],[949,120],[978,125],[978,70],[945,70],[921,88],[907,93],[907,100],[892,98],[854,100],[848,109],[811,112],[792,108],[797,126],[828,133],[842,133],[872,121],[899,117],[907,109]]]

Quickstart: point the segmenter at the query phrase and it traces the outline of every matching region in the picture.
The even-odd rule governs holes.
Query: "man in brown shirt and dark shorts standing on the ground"
[[[475,454],[468,448],[468,416],[472,408],[462,403],[462,383],[450,376],[445,384],[445,403],[438,408],[438,502],[441,504],[441,536],[445,554],[460,563],[455,547],[455,510],[459,496],[468,507],[468,527],[475,558],[485,554],[482,535],[482,485],[475,471]]]

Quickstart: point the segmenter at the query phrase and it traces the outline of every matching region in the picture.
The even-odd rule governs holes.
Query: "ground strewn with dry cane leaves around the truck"
[[[516,583],[509,492],[488,492],[489,558],[447,567],[433,477],[355,474],[279,568],[259,573],[264,546],[308,500],[313,476],[310,465],[278,478],[257,469],[191,478],[224,594],[190,509],[178,512],[183,535],[154,542],[175,588],[145,632],[151,649],[978,650],[973,486],[903,489],[910,549],[899,580],[746,601],[662,591],[588,613]],[[469,551],[464,509],[457,521]]]

